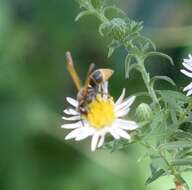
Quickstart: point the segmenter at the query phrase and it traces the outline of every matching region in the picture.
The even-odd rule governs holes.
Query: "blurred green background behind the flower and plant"
[[[189,81],[179,73],[182,58],[192,53],[191,0],[117,0],[127,15],[144,21],[144,33],[158,50],[173,57],[149,60],[152,75],[168,75],[181,91]],[[64,54],[73,54],[84,79],[88,65],[115,70],[111,93],[117,97],[144,91],[141,77],[124,79],[124,52],[107,59],[107,41],[98,21],[74,22],[79,7],[72,0],[0,0],[0,190],[162,190],[173,187],[163,177],[144,186],[149,160],[138,161],[144,150],[90,152],[90,139],[64,141],[60,129],[65,97],[75,97]],[[160,83],[158,88],[172,88]],[[142,101],[142,100],[138,100]],[[148,101],[148,100],[146,100]],[[137,104],[137,103],[136,103]],[[185,174],[189,183],[192,176]],[[191,185],[192,187],[192,185]]]

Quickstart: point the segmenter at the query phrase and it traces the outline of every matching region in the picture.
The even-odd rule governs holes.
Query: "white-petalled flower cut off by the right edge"
[[[192,55],[189,54],[189,59],[183,59],[183,66],[185,67],[185,69],[181,69],[180,71],[192,78]],[[192,94],[192,82],[190,84],[188,84],[184,89],[183,91],[188,91],[187,92],[187,96],[190,96]]]

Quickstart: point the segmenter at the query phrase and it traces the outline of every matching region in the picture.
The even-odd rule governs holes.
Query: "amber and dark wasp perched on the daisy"
[[[79,105],[77,110],[82,114],[86,114],[87,105],[95,99],[98,93],[104,93],[102,89],[102,84],[104,84],[104,82],[106,82],[111,77],[111,75],[113,74],[113,70],[106,68],[95,70],[95,65],[92,63],[89,66],[85,82],[83,85],[81,85],[70,52],[66,53],[66,64],[67,70],[78,90],[77,101]]]

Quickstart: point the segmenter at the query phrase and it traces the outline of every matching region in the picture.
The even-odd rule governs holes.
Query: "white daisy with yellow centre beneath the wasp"
[[[107,85],[103,87],[107,92]],[[78,101],[67,97],[67,101],[73,108],[65,109],[64,113],[69,117],[63,117],[64,120],[74,121],[74,123],[64,124],[61,127],[72,129],[65,137],[66,140],[75,139],[83,140],[92,136],[91,150],[95,151],[103,145],[105,135],[110,133],[115,139],[125,138],[130,140],[130,135],[126,131],[136,129],[138,126],[134,121],[121,119],[127,115],[130,106],[135,100],[135,96],[124,99],[125,89],[123,89],[119,99],[114,102],[112,97],[106,96],[104,93],[97,94],[96,98],[87,105],[86,114],[78,112]]]

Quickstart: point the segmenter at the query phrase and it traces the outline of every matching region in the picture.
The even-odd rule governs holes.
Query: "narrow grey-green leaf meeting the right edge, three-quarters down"
[[[161,144],[159,146],[159,149],[173,150],[173,149],[190,148],[190,147],[192,147],[192,143],[189,143],[189,141],[174,141]]]

